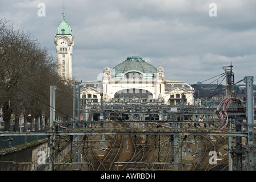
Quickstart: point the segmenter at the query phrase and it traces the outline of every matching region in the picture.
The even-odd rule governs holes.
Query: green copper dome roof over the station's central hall
[[[138,72],[142,73],[143,76],[154,77],[154,74],[157,73],[157,68],[146,63],[140,56],[127,57],[125,61],[116,65],[113,69],[115,70],[115,77],[123,77],[129,72]]]

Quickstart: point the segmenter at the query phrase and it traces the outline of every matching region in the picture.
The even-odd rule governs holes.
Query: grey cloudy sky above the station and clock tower
[[[45,16],[38,16],[39,3]],[[29,31],[54,57],[62,11],[63,0],[0,0],[0,18]],[[103,68],[133,55],[162,66],[166,80],[195,84],[220,75],[231,62],[235,82],[256,80],[255,0],[65,0],[65,11],[79,81],[97,80]]]

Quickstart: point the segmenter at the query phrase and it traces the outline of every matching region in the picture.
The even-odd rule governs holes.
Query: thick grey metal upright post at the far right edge
[[[247,117],[247,170],[254,171],[254,121],[253,121],[253,76],[247,76],[246,83],[246,117]]]

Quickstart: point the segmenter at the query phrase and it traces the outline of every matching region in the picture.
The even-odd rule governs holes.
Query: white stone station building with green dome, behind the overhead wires
[[[105,67],[95,82],[83,82],[86,102],[161,102],[193,105],[194,89],[185,81],[166,80],[164,68],[155,68],[140,56],[129,56],[114,68]],[[183,98],[182,98],[183,97]]]

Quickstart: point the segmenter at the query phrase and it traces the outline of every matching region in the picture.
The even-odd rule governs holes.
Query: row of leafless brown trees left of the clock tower
[[[0,105],[5,131],[10,130],[11,114],[15,131],[19,129],[21,114],[25,120],[28,114],[31,121],[40,118],[42,129],[42,115],[49,115],[50,85],[63,91],[57,100],[63,109],[59,113],[65,117],[71,115],[72,97],[67,94],[72,92],[72,86],[61,80],[56,67],[53,56],[41,48],[29,32],[17,29],[10,20],[0,19]],[[27,131],[27,126],[24,128]],[[35,129],[39,130],[39,126],[35,125]]]

